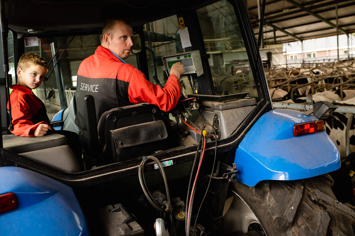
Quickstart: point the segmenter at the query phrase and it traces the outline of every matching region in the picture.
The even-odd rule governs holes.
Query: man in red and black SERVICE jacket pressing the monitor
[[[162,111],[172,110],[181,96],[179,77],[185,73],[181,63],[175,63],[164,88],[153,85],[144,74],[126,64],[133,46],[133,29],[122,19],[109,19],[102,30],[101,46],[95,54],[84,59],[78,70],[75,99],[75,123],[80,128],[82,144],[86,143],[87,128],[84,96],[95,100],[96,118],[112,108],[148,102]]]

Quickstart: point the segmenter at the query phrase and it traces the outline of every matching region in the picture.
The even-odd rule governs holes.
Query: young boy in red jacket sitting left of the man
[[[48,72],[47,62],[34,53],[24,53],[17,65],[17,84],[12,85],[10,94],[13,131],[11,133],[24,137],[40,137],[47,132],[55,132],[66,136],[68,145],[82,166],[78,134],[70,131],[55,131],[50,125],[47,110],[41,99],[34,95]],[[9,104],[7,104],[9,108]]]

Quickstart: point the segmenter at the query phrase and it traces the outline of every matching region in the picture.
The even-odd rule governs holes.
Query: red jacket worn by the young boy
[[[47,110],[32,90],[22,85],[12,85],[10,94],[13,131],[17,136],[35,137],[33,132],[41,123],[50,124]],[[7,103],[9,109],[9,103]]]

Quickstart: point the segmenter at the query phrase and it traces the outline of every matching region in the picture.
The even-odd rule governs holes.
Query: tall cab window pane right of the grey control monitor
[[[249,92],[253,90],[253,75],[233,6],[218,1],[197,10],[203,42],[214,83],[215,95]]]

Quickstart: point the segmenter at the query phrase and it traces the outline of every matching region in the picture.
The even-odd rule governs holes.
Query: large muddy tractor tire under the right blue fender
[[[324,174],[294,181],[266,180],[254,187],[240,182],[230,184],[230,194],[234,198],[230,202],[242,202],[250,212],[243,210],[240,203],[227,204],[226,201],[224,227],[238,227],[233,226],[240,225],[235,221],[247,218],[247,225],[253,225],[247,231],[254,230],[258,224],[261,235],[354,236],[354,208],[337,201],[331,190],[333,183],[332,177]],[[242,211],[245,214],[241,214],[242,218],[235,218],[236,211],[239,215]],[[230,218],[237,220],[232,223]],[[227,231],[226,235],[233,235],[233,229]],[[239,233],[240,229],[235,231]]]

